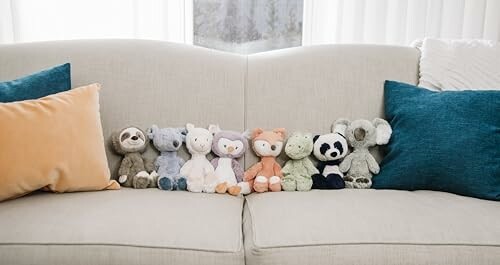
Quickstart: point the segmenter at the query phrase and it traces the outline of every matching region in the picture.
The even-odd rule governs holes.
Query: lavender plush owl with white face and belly
[[[243,168],[238,158],[248,149],[248,139],[245,133],[219,131],[215,134],[212,151],[218,157],[212,159],[217,177],[215,192],[231,195],[248,194],[250,187],[243,181]]]

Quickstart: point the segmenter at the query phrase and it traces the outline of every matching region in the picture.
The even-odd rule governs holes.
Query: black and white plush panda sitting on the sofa
[[[318,160],[319,173],[312,175],[313,189],[343,189],[344,174],[339,164],[349,152],[345,139],[347,123],[338,120],[332,125],[332,133],[314,136],[314,157]]]

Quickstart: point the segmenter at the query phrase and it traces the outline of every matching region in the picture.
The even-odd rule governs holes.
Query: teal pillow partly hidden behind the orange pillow
[[[12,81],[0,82],[0,102],[37,99],[70,88],[70,64],[66,63]]]

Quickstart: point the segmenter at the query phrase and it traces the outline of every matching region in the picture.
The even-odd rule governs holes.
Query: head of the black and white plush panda
[[[314,137],[314,156],[320,161],[337,160],[349,151],[346,139],[339,133],[329,133]]]

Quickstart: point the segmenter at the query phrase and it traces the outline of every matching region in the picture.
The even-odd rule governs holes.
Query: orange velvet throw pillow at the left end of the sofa
[[[119,189],[110,180],[99,84],[0,103],[0,201],[44,188]]]

